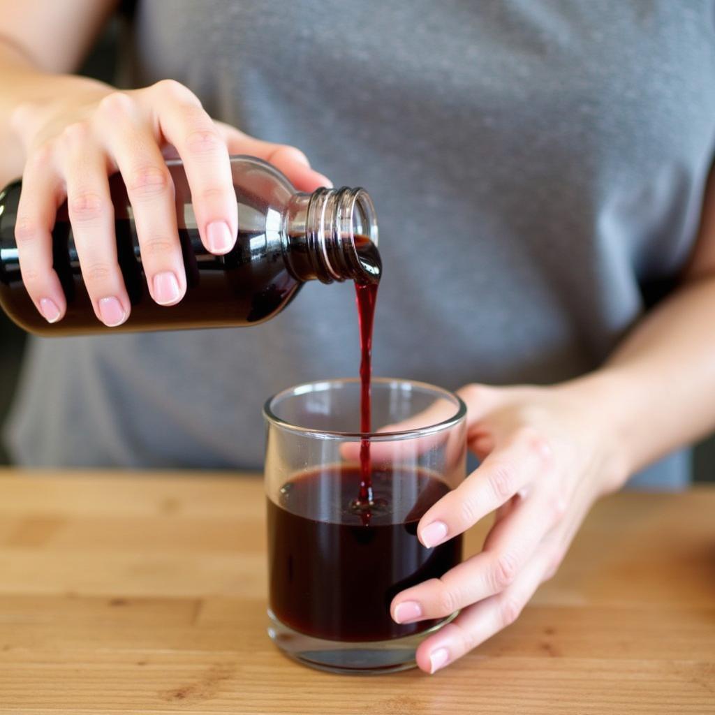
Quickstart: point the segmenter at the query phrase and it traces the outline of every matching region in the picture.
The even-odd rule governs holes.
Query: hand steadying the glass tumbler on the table
[[[480,466],[425,513],[418,538],[433,547],[495,511],[483,550],[442,578],[395,596],[398,623],[458,616],[420,644],[433,673],[518,617],[551,578],[594,501],[627,470],[590,386],[458,391],[468,408],[468,447]]]

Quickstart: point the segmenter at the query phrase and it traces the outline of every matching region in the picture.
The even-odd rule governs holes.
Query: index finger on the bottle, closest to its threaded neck
[[[228,253],[236,242],[238,204],[226,143],[192,92],[176,82],[162,83],[160,92],[154,102],[159,129],[184,163],[202,243],[217,255]]]

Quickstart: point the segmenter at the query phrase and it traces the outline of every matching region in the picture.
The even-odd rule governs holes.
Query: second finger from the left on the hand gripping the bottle
[[[117,262],[107,160],[78,126],[65,131],[63,163],[67,209],[84,285],[99,320],[107,327],[122,325],[131,305]]]

